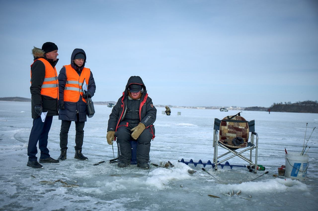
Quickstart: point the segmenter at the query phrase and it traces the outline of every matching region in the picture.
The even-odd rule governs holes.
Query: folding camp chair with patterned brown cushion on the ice
[[[243,159],[250,164],[250,169],[254,169],[257,172],[257,150],[258,150],[258,134],[255,132],[255,121],[246,121],[245,118],[238,114],[234,116],[227,116],[222,120],[218,118],[214,119],[214,133],[213,133],[213,147],[214,147],[214,157],[213,163],[215,164],[215,170],[218,170],[218,164],[223,163],[235,156]],[[219,131],[218,131],[219,130]],[[251,142],[248,142],[249,133],[251,132]],[[256,142],[254,143],[254,137],[256,136]],[[243,141],[239,143],[233,139],[241,137]],[[242,143],[243,142],[243,143]],[[234,144],[233,144],[234,143]],[[218,156],[218,147],[222,147],[228,152],[221,156]],[[244,149],[246,148],[246,149]],[[255,149],[255,162],[252,162],[252,150]],[[239,151],[241,150],[241,151]],[[243,156],[242,153],[250,151],[249,159]],[[225,158],[224,160],[218,161],[219,158],[232,153],[233,155]]]

